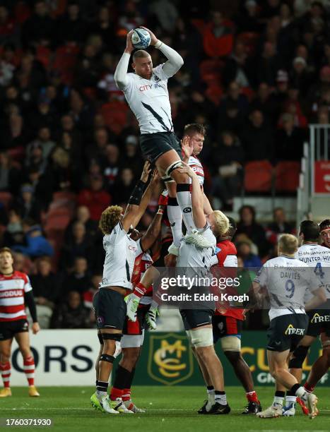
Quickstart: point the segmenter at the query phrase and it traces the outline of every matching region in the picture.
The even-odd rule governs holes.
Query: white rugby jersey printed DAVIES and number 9
[[[322,287],[307,264],[288,256],[266,261],[254,281],[269,292],[270,320],[291,313],[305,313],[305,292]]]

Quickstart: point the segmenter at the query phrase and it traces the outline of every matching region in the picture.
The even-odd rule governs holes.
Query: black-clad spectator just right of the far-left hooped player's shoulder
[[[35,303],[54,309],[59,299],[59,277],[52,272],[52,260],[49,256],[37,259],[37,273],[30,276]]]

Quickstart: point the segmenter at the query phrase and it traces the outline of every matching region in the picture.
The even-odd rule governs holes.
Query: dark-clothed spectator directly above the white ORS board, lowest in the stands
[[[89,313],[81,294],[69,292],[66,301],[54,311],[51,328],[90,328]]]

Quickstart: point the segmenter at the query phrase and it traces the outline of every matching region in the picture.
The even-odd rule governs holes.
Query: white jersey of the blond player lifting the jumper
[[[203,276],[208,274],[208,270],[212,265],[211,258],[216,253],[216,236],[214,236],[211,225],[208,223],[204,229],[199,229],[199,233],[210,241],[213,246],[199,249],[194,244],[186,243],[183,238],[177,258],[177,267],[191,268],[193,273]]]

